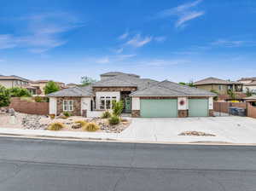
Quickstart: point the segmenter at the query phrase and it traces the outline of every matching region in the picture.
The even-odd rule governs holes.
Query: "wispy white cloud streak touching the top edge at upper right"
[[[184,3],[172,9],[163,10],[158,14],[158,17],[166,18],[166,17],[175,15],[177,16],[177,21],[175,26],[184,27],[185,23],[188,22],[189,20],[194,20],[195,18],[198,18],[203,14],[205,14],[204,11],[192,10],[201,2],[202,0],[197,0],[192,3]]]

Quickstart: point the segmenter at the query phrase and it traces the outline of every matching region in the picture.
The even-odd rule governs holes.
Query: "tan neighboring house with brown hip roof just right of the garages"
[[[219,95],[227,95],[228,90],[234,92],[242,91],[242,84],[240,82],[233,82],[219,78],[205,78],[194,83],[195,87],[201,90],[208,90],[218,92]]]

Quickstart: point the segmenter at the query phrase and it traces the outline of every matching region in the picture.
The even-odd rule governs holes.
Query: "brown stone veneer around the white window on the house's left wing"
[[[57,97],[57,115],[63,113],[63,100],[73,100],[73,112],[75,116],[81,116],[81,97]]]

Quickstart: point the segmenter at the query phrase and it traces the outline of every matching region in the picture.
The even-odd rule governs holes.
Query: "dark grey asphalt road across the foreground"
[[[1,191],[256,190],[256,147],[0,137]]]

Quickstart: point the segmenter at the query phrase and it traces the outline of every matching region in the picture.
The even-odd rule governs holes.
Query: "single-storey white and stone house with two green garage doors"
[[[112,109],[113,101],[124,101],[124,113],[132,117],[194,117],[213,115],[213,96],[167,80],[140,78],[136,74],[108,72],[101,80],[84,87],[73,87],[49,95],[49,114],[70,112],[99,117]]]

